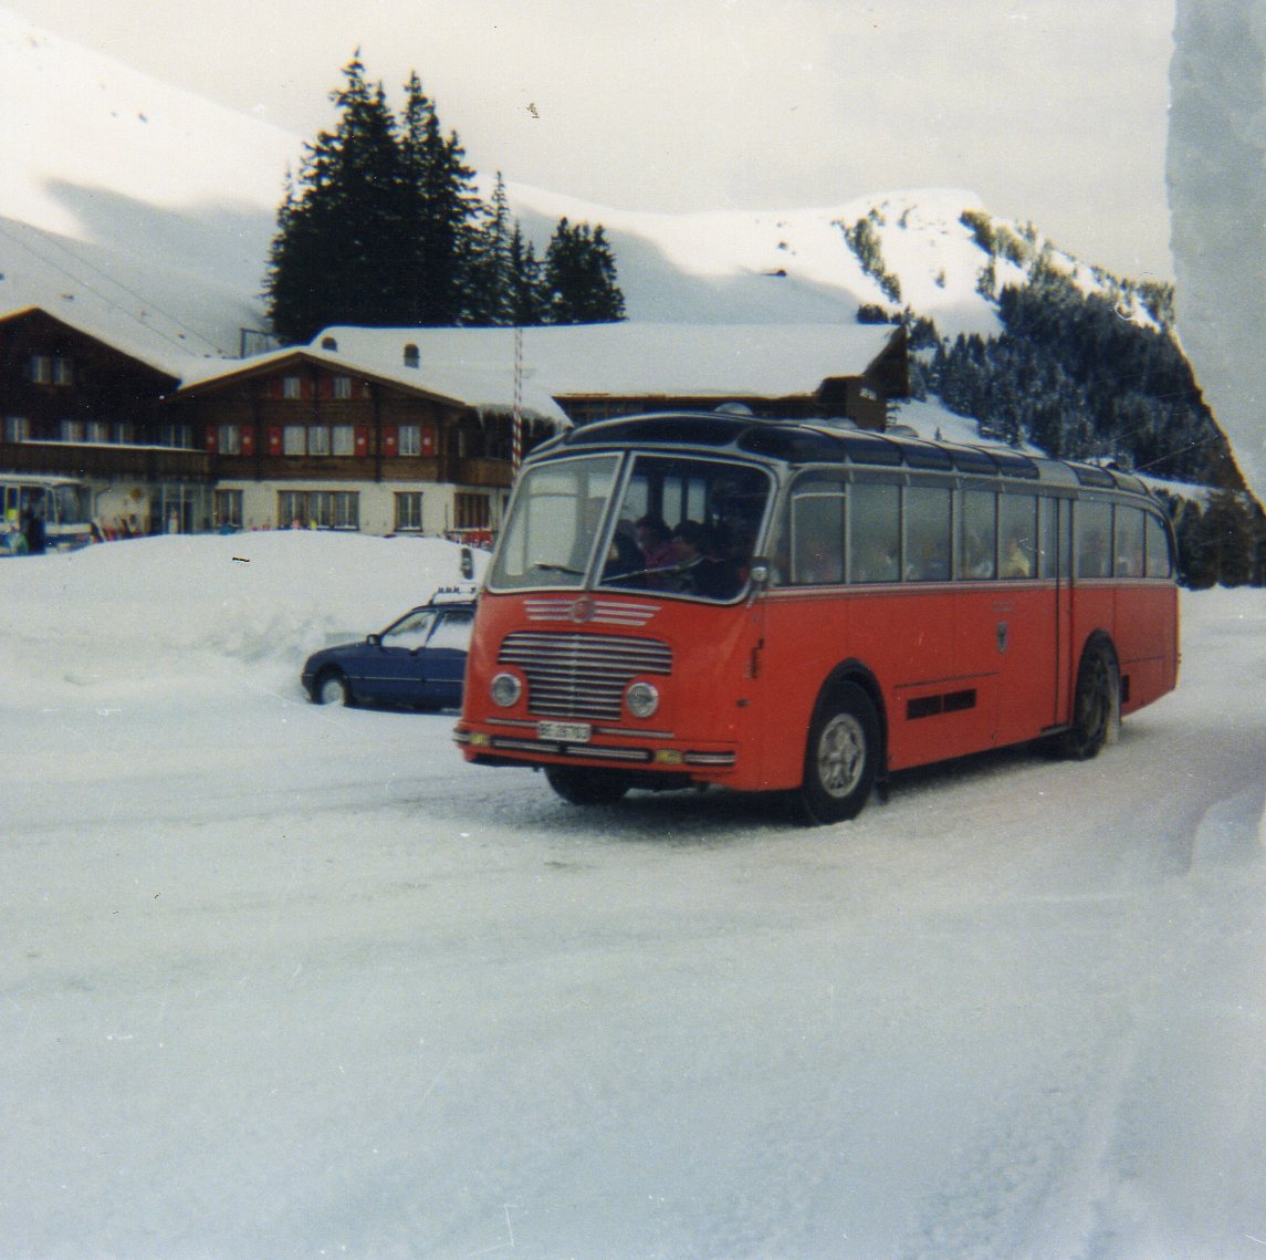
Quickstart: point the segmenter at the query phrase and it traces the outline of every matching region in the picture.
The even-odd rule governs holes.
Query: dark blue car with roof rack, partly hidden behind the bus
[[[460,708],[473,623],[472,595],[437,596],[361,643],[314,652],[304,690],[315,704]]]

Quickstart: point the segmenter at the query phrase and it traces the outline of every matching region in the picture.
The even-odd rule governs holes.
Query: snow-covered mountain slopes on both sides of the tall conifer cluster
[[[173,370],[185,356],[239,353],[241,331],[265,325],[268,243],[303,141],[4,8],[0,76],[10,86],[0,133],[0,312],[46,306]],[[963,217],[989,217],[963,190],[686,215],[625,211],[513,181],[508,192],[538,247],[562,217],[603,224],[629,318],[642,322],[852,324],[868,305],[910,309],[942,334],[987,336],[999,325],[982,275],[993,267],[1000,284],[1024,272],[981,246]],[[847,230],[857,224],[879,266],[851,247]],[[1067,255],[1047,257],[1084,287],[1101,284]]]

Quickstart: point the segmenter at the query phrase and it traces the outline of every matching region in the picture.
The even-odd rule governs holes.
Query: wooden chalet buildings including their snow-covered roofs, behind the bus
[[[105,532],[489,532],[524,450],[566,424],[743,404],[882,429],[908,391],[887,325],[329,328],[243,360],[0,317],[0,470],[86,480]]]

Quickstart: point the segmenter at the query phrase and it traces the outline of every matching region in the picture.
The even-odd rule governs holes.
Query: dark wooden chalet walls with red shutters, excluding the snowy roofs
[[[908,389],[905,356],[896,329],[857,375],[828,377],[803,394],[577,391],[555,401],[577,424],[732,401],[760,415],[844,415],[882,429],[889,400]],[[205,370],[205,361],[187,366]],[[404,366],[419,369],[415,344],[405,347]],[[47,312],[0,317],[0,469],[84,477],[105,527],[130,523],[141,532],[499,527],[513,480],[509,398],[476,408],[399,372],[341,360],[333,338],[216,367],[181,384],[170,365],[142,361]],[[524,450],[552,432],[552,420],[530,420]]]

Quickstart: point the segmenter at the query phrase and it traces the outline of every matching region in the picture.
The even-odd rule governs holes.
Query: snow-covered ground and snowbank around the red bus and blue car
[[[1266,594],[1179,690],[791,827],[305,703],[439,542],[0,562],[0,1254],[1266,1254]]]

